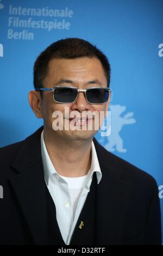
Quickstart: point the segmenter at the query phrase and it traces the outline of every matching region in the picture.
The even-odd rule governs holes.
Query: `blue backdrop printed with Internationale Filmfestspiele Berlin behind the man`
[[[1,0],[0,146],[42,125],[28,104],[38,54],[62,38],[88,40],[112,70],[111,135],[96,138],[154,176],[163,212],[162,10],[162,0]]]

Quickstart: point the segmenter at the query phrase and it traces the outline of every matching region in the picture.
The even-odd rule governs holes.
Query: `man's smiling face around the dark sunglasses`
[[[76,59],[53,59],[49,62],[48,75],[43,81],[43,87],[52,88],[54,86],[71,86],[77,87],[78,89],[86,89],[87,87],[107,87],[107,81],[104,74],[104,70],[101,62],[97,58],[76,58]],[[109,97],[110,100],[110,97]],[[67,121],[67,115],[65,114],[65,107],[68,108],[69,113],[77,111],[82,118],[82,112],[87,111],[96,113],[100,111],[106,112],[109,105],[109,100],[101,105],[89,104],[83,92],[79,92],[77,100],[74,103],[58,103],[53,100],[53,92],[45,91],[43,92],[43,97],[41,100],[41,114],[44,121],[44,129],[46,132],[53,133],[55,136],[60,136],[64,139],[89,139],[92,138],[97,130],[89,130],[87,128],[82,130],[82,126],[78,127],[80,129],[76,130],[57,130],[54,131],[52,128],[52,123],[54,118],[52,114],[54,111],[60,111],[62,113],[63,119]],[[63,120],[63,121],[64,121]],[[72,120],[69,119],[70,123]],[[92,121],[95,123],[95,119],[87,120],[87,122]],[[86,122],[86,125],[88,125]]]

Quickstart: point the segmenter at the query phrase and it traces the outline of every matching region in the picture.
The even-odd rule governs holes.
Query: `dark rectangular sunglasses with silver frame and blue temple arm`
[[[36,91],[53,91],[53,99],[58,103],[73,103],[78,97],[78,93],[85,94],[85,99],[89,104],[102,104],[109,99],[111,89],[108,87],[89,87],[87,89],[78,89],[71,86],[55,86],[53,88],[38,88]]]

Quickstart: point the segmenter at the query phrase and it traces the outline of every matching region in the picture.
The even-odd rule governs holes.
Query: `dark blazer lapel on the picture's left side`
[[[11,167],[16,171],[9,182],[26,218],[34,243],[47,243],[45,180],[41,160],[41,129],[29,136]]]

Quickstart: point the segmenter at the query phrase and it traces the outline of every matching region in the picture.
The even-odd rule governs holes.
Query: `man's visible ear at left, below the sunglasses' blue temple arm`
[[[28,94],[29,105],[32,108],[37,118],[42,118],[41,112],[41,95],[40,92],[31,90]]]

